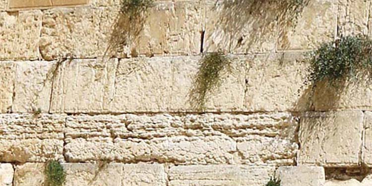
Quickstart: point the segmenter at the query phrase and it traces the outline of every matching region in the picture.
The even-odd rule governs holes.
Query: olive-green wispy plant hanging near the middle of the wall
[[[199,61],[199,69],[190,91],[191,106],[204,110],[211,93],[221,86],[223,77],[231,72],[231,61],[225,55],[220,52],[205,54]]]

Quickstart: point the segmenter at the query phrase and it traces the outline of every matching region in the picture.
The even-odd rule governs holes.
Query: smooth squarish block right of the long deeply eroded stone
[[[363,117],[361,111],[306,113],[300,124],[299,163],[324,167],[358,166]]]

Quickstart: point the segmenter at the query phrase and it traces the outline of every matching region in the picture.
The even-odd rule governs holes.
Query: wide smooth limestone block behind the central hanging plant
[[[234,58],[235,59],[235,58]],[[121,60],[117,69],[113,112],[195,111],[189,94],[199,57],[136,58]],[[206,102],[207,110],[242,110],[244,65],[234,60],[234,74]]]

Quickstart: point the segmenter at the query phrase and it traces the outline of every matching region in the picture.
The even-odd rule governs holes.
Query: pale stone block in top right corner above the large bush
[[[370,13],[369,0],[339,0],[338,36],[367,35]]]

